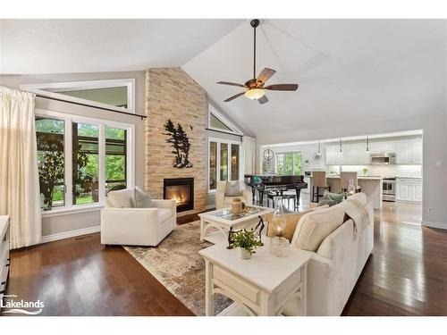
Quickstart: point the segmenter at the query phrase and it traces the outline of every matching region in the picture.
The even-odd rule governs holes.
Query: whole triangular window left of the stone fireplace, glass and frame
[[[21,85],[21,89],[77,104],[135,113],[135,80],[86,80]]]

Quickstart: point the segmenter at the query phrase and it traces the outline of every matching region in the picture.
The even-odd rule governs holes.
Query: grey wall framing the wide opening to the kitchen
[[[308,141],[317,138],[343,138],[365,134],[380,134],[403,130],[423,130],[423,212],[425,225],[447,229],[447,138],[446,112],[426,113],[401,118],[375,121],[362,121],[350,124],[349,128],[342,123],[321,129],[299,130],[295,134],[276,134],[275,136],[259,136],[257,145],[267,143],[284,143]],[[257,171],[260,162],[257,160]],[[430,208],[432,209],[430,211]]]

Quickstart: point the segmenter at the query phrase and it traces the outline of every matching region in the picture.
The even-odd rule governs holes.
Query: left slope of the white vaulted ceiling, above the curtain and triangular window
[[[181,66],[242,20],[2,20],[0,73]]]

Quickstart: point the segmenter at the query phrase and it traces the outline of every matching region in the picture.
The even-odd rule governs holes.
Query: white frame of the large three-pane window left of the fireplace
[[[119,121],[108,121],[104,119],[90,118],[87,116],[79,116],[69,113],[61,113],[50,111],[46,109],[36,108],[35,116],[46,117],[51,119],[58,119],[64,121],[64,180],[65,180],[65,203],[63,206],[50,209],[48,211],[41,211],[42,217],[57,216],[72,213],[85,213],[96,211],[103,208],[105,203],[105,127],[119,128],[127,130],[126,140],[127,146],[127,161],[126,169],[127,187],[135,187],[135,125],[131,123],[124,123]],[[98,147],[98,199],[97,203],[72,205],[72,122],[88,123],[97,125],[99,128],[99,147]]]

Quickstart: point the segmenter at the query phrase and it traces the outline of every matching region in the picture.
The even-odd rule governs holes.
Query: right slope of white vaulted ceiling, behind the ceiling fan
[[[446,108],[446,21],[267,20],[257,39],[257,72],[276,70],[269,84],[299,83],[297,92],[267,91],[259,105],[240,88],[252,76],[252,29],[237,29],[183,69],[255,136],[293,134],[338,122],[391,118]]]

